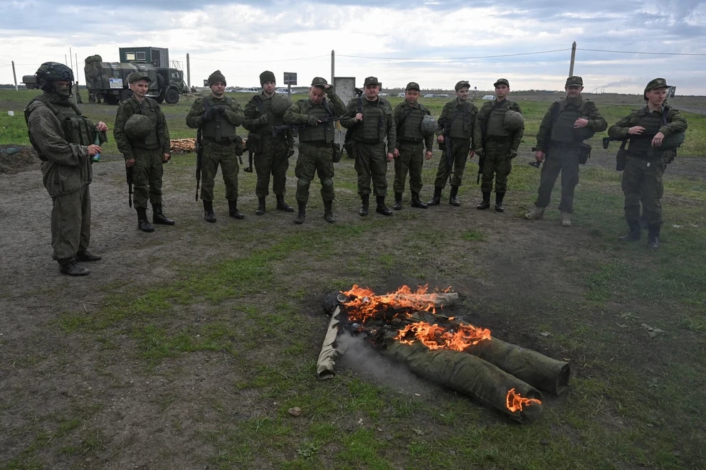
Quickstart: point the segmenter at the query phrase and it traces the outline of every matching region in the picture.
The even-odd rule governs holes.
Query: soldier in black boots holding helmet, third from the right
[[[495,100],[485,102],[478,112],[474,137],[475,154],[478,155],[478,171],[483,174],[480,191],[483,201],[476,207],[485,210],[490,207],[490,192],[495,174],[495,210],[505,211],[502,199],[507,192],[507,176],[512,171],[512,159],[517,156],[522,135],[525,134],[525,121],[522,110],[516,102],[507,100],[510,82],[500,78],[495,87]]]

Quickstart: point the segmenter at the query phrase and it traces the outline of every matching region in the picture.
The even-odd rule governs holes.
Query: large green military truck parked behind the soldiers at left
[[[179,95],[187,92],[184,73],[177,68],[140,62],[103,62],[100,55],[90,55],[84,62],[89,102],[103,100],[109,105],[117,105],[127,100],[132,96],[127,77],[133,72],[144,73],[152,80],[147,96],[159,103],[174,105],[179,102]]]

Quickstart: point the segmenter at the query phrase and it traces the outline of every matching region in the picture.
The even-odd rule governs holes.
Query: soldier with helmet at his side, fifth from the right
[[[436,121],[426,106],[419,100],[419,85],[409,82],[404,90],[404,101],[395,108],[395,127],[397,129],[397,150],[395,156],[395,191],[394,210],[402,209],[402,193],[409,171],[409,191],[412,193],[412,207],[426,209],[427,205],[419,200],[421,192],[421,170],[424,157],[431,159],[433,135],[436,131]],[[428,128],[431,126],[431,133]],[[424,132],[424,131],[427,132]],[[426,147],[426,154],[424,149]]]

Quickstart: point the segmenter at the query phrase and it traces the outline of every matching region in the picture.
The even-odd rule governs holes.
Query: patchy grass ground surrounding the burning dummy
[[[0,144],[28,143],[21,110],[34,94],[0,92]],[[446,101],[423,100],[437,116]],[[173,138],[193,137],[184,123],[190,104],[164,105]],[[528,156],[548,102],[521,105],[527,123],[520,154]],[[631,108],[600,105],[609,125]],[[83,109],[113,121],[115,107]],[[680,158],[706,158],[705,118],[685,115],[690,129]],[[104,153],[94,185],[105,192],[119,186],[122,194],[112,139]],[[4,339],[0,326],[0,468],[705,469],[704,173],[668,171],[663,246],[648,252],[644,240],[616,240],[623,198],[620,174],[609,167],[581,169],[571,229],[522,220],[539,173],[520,159],[508,210],[497,217],[473,208],[473,163],[460,210],[406,206],[393,218],[359,218],[355,172],[344,160],[335,178],[339,222],[320,218],[312,184],[311,215],[302,226],[281,213],[251,215],[254,178],[241,173],[245,221],[205,224],[191,210],[191,218],[181,214],[178,236],[130,232],[115,241],[121,251],[109,252],[131,258],[124,277],[104,282],[92,273],[88,308],[65,298],[65,279],[17,286],[20,294],[0,290],[0,299],[31,299],[28,308],[52,312],[41,328],[32,325],[40,331],[27,346]],[[194,156],[173,160],[165,176],[170,198],[194,205]],[[436,161],[435,151],[425,191]],[[10,176],[0,178],[6,186]],[[288,182],[290,195],[294,187]],[[216,191],[222,199],[218,180]],[[129,220],[132,228],[132,213]],[[132,259],[144,256],[141,245],[161,251]],[[203,247],[192,251],[194,245]],[[138,276],[148,266],[152,275]],[[569,391],[547,396],[541,419],[520,425],[467,397],[412,380],[401,385],[393,371],[386,380],[354,361],[332,380],[317,381],[323,294],[352,284],[381,292],[399,282],[451,285],[461,294],[458,314],[569,360]],[[34,391],[35,382],[63,371],[65,380],[91,380],[76,380],[58,398]],[[50,397],[51,405],[37,397]],[[301,417],[290,415],[293,407]],[[145,429],[130,436],[144,440],[125,437],[130,419]]]

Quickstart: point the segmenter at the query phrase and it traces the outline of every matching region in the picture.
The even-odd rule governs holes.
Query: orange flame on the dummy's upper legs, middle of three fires
[[[477,328],[473,325],[458,325],[456,328],[456,331],[448,331],[443,326],[420,321],[399,330],[395,339],[403,344],[411,344],[417,340],[431,350],[443,348],[453,351],[464,351],[468,346],[478,344],[484,339],[490,340],[490,330],[487,328]],[[405,336],[410,332],[415,339],[406,340]]]

